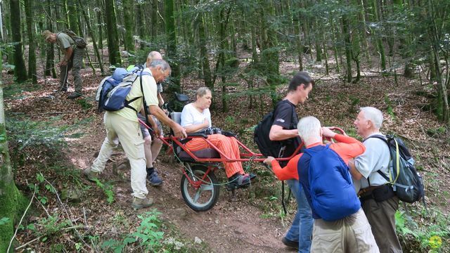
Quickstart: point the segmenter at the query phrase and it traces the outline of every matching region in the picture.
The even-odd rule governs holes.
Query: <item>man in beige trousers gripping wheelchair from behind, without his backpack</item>
[[[158,107],[156,83],[164,81],[169,76],[171,72],[169,64],[165,60],[154,60],[143,72],[148,74],[136,79],[126,97],[127,100],[138,99],[129,103],[129,107],[114,112],[105,112],[103,116],[106,129],[105,141],[103,141],[98,157],[94,160],[92,166],[84,169],[84,175],[90,181],[96,181],[105,169],[105,164],[113,153],[113,149],[117,147],[120,141],[131,167],[131,188],[133,189],[131,206],[134,209],[150,207],[153,204],[153,198],[147,196],[146,157],[137,116],[137,112],[143,108],[143,100],[146,100],[150,113],[170,126],[174,130],[175,136],[183,138],[187,136],[186,130],[169,119],[165,112]]]

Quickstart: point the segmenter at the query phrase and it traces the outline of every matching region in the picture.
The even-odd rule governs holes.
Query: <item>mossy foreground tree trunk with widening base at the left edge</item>
[[[6,141],[1,70],[2,62],[0,60],[0,219],[7,219],[5,223],[0,226],[0,252],[8,252],[9,242],[14,234],[14,223],[23,206],[24,197],[15,187],[13,171],[11,170],[8,142]],[[10,250],[9,252],[14,252],[14,250]]]

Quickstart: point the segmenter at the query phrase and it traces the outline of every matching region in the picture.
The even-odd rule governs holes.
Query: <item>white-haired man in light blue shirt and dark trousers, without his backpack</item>
[[[402,252],[395,233],[395,212],[399,198],[381,173],[389,177],[390,151],[380,133],[383,113],[373,107],[360,109],[354,121],[356,132],[364,138],[366,152],[349,162],[350,173],[357,183],[361,206],[372,227],[380,252]],[[378,138],[377,138],[378,137]],[[355,183],[356,183],[355,182]]]

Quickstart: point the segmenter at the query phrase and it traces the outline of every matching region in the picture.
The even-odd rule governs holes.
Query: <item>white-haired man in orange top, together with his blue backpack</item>
[[[272,166],[278,179],[297,179],[302,184],[314,218],[311,252],[378,252],[375,239],[369,229],[370,225],[361,209],[347,171],[348,167],[345,165],[350,159],[364,153],[364,145],[355,138],[336,134],[327,127],[321,127],[319,119],[311,116],[300,119],[297,129],[307,147],[304,153],[293,157],[284,168],[280,167],[274,157],[267,157],[264,162]],[[323,137],[333,138],[337,142],[323,145]],[[319,163],[322,164],[316,164],[318,161],[316,155],[319,153],[326,154],[323,159],[319,157]],[[321,160],[326,162],[321,162]],[[339,172],[330,173],[330,171]],[[325,176],[316,178],[314,174]],[[328,179],[328,174],[333,174],[335,179],[333,183],[325,180]],[[347,177],[344,174],[347,174]],[[314,182],[310,179],[313,177]],[[321,195],[327,195],[327,197],[340,195],[339,199],[342,199],[335,205],[328,205],[329,202],[336,199],[331,196],[329,196],[329,202],[328,200],[321,202],[322,206],[328,208],[325,214],[323,209],[319,210],[316,208],[317,205],[314,205],[319,201],[319,195],[316,195],[315,191],[317,185],[324,186],[320,191]],[[349,212],[345,212],[337,219],[325,220],[326,215],[333,216],[340,212],[339,207],[342,203],[346,207],[348,204]]]

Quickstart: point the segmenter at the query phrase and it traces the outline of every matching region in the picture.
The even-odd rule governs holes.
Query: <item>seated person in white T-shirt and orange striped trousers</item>
[[[186,133],[192,134],[207,127],[211,127],[211,91],[207,87],[200,87],[195,92],[195,102],[185,105],[181,112],[181,126],[186,129]],[[240,159],[239,145],[236,138],[226,137],[222,134],[208,135],[208,141],[215,145],[222,153],[230,159]],[[185,144],[191,151],[211,148],[203,138],[193,138]],[[224,158],[224,157],[222,157]],[[229,188],[240,188],[247,186],[250,179],[256,175],[245,174],[241,162],[224,162],[226,177],[229,179]]]

